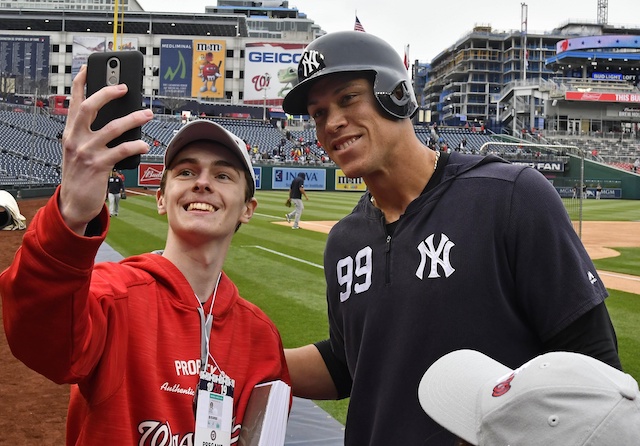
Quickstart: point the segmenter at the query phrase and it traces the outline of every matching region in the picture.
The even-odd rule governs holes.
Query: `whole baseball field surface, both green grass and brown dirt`
[[[286,347],[327,336],[322,270],[326,233],[355,205],[359,193],[308,192],[301,230],[284,219],[286,192],[258,191],[251,223],[240,228],[225,264],[241,294],[275,321]],[[29,223],[44,199],[19,202]],[[587,200],[582,240],[609,289],[607,306],[618,334],[625,371],[640,380],[640,203]],[[18,248],[23,231],[0,231],[0,269]],[[130,190],[111,222],[107,243],[124,256],[164,246],[166,221],[144,190]],[[64,444],[68,387],[53,384],[11,355],[0,334],[0,445]],[[320,405],[344,422],[346,401]]]

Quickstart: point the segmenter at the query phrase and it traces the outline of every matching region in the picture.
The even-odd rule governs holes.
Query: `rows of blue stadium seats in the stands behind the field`
[[[286,131],[258,120],[203,119],[213,119],[242,138],[251,147],[254,161],[306,165],[331,163],[311,126],[290,127]],[[64,130],[64,124],[65,116],[0,110],[0,185],[58,184],[62,162],[58,135]],[[160,116],[143,126],[142,135],[150,146],[150,159],[157,161],[164,155],[169,141],[182,125],[178,117]],[[418,139],[428,145],[432,138],[431,127],[416,126],[415,130]],[[459,127],[444,127],[438,129],[437,140],[438,147],[446,143],[449,150],[480,153],[486,143],[504,139],[490,132],[485,134]],[[466,147],[459,149],[463,140],[466,140]],[[541,142],[578,146],[586,150],[592,159],[625,170],[631,170],[633,162],[640,157],[640,143],[633,138],[544,136]],[[489,147],[489,152],[497,152],[508,159],[523,154],[517,146]]]

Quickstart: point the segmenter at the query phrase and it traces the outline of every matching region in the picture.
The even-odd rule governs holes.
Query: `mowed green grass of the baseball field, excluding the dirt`
[[[303,220],[338,220],[355,206],[358,192],[308,192]],[[260,306],[275,322],[285,347],[305,345],[328,336],[325,283],[322,270],[326,235],[292,231],[284,222],[290,211],[284,191],[258,191],[258,208],[251,223],[234,236],[225,272],[243,297]],[[129,194],[111,220],[107,243],[124,256],[164,247],[167,224],[157,215],[155,198]],[[640,220],[640,202],[587,200],[584,220]],[[640,275],[640,249],[619,249],[619,257],[597,260],[598,269]],[[625,370],[640,380],[640,296],[609,290],[607,307],[618,333]],[[348,400],[318,404],[344,423]]]

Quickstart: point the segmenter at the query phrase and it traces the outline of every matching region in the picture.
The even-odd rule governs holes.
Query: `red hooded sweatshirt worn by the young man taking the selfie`
[[[58,194],[38,211],[0,275],[11,351],[52,381],[73,384],[67,445],[192,445],[200,361],[193,290],[157,254],[94,265],[106,208],[102,234],[80,237],[64,224]],[[224,273],[213,318],[210,352],[235,379],[234,443],[253,386],[290,378],[276,327]],[[219,373],[212,367],[209,360],[208,370]]]

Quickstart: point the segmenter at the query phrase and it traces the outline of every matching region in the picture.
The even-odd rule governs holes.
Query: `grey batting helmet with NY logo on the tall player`
[[[282,107],[292,115],[307,114],[307,94],[322,77],[342,72],[373,74],[373,91],[385,112],[409,118],[418,109],[411,80],[400,55],[387,42],[360,31],[329,33],[311,42],[298,64],[298,85]]]

